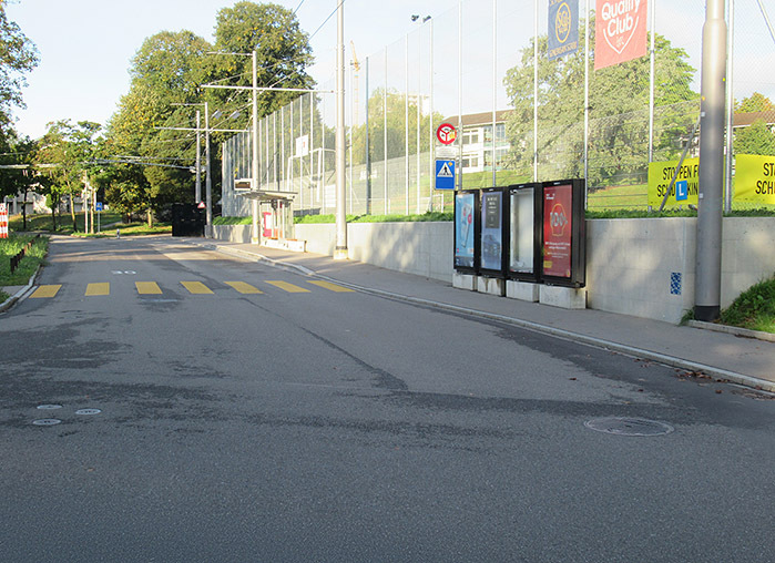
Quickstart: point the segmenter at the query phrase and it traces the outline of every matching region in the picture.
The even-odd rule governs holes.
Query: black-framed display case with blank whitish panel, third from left
[[[541,272],[542,185],[509,186],[509,259],[511,279],[537,283]]]

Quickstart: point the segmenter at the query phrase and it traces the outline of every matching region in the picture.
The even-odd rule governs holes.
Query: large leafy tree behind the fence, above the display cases
[[[584,43],[584,25],[579,44]],[[594,22],[590,22],[594,42]],[[539,166],[542,175],[583,176],[584,53],[557,60],[547,57],[547,37],[538,38],[538,100],[533,99],[533,42],[504,79],[513,111],[508,121],[510,166],[530,176],[533,160],[533,104],[538,103]],[[695,70],[687,54],[655,37],[654,150],[672,157],[676,139],[691,131],[698,95],[691,90]],[[590,64],[592,68],[592,64]],[[641,181],[645,174],[649,132],[649,58],[590,71],[590,186]],[[690,105],[687,106],[687,102]],[[692,114],[692,115],[690,115]]]

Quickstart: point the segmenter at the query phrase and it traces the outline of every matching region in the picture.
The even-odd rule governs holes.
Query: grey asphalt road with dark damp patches
[[[0,315],[0,560],[773,561],[775,401],[312,282],[54,240]]]

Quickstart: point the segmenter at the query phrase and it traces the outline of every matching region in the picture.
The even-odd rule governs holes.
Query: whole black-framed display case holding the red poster
[[[541,282],[584,287],[587,238],[584,181],[544,182],[541,186]]]

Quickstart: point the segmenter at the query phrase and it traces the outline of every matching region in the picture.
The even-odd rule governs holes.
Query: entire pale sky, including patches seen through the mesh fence
[[[106,124],[121,96],[129,91],[130,61],[143,41],[160,31],[193,31],[213,42],[218,10],[234,6],[236,0],[7,0],[7,14],[16,21],[40,52],[40,65],[27,75],[29,86],[22,92],[27,110],[14,111],[17,130],[38,139],[47,123],[70,119]],[[258,0],[261,1],[261,0]],[[297,10],[302,29],[312,35],[316,64],[308,69],[318,84],[328,84],[336,68],[336,10],[338,0],[274,0]],[[580,0],[583,6],[584,0]],[[540,25],[547,27],[545,0],[539,2]],[[440,85],[457,83],[457,13],[459,0],[346,0],[346,61],[351,60],[350,41],[358,59],[374,58],[375,69],[383,60],[380,51],[389,45],[392,64],[402,66],[407,34],[418,30],[412,14],[424,19],[431,16],[435,37],[447,47],[435,59],[435,78]],[[465,112],[485,111],[491,106],[492,94],[481,84],[492,83],[491,63],[481,57],[477,42],[489,49],[491,0],[467,0],[463,9],[463,58],[467,70]],[[533,0],[500,0],[498,2],[499,72],[518,64],[520,49],[532,37]],[[590,0],[594,7],[595,1]],[[656,29],[673,45],[686,50],[690,63],[698,69],[702,47],[704,0],[650,0],[656,7]],[[775,21],[775,0],[763,0],[768,16]],[[775,68],[775,40],[769,35],[758,0],[735,0],[735,72],[734,95],[741,100],[759,91],[775,100],[775,78],[763,69]],[[333,14],[333,16],[332,16]],[[329,16],[332,16],[329,18]],[[324,24],[326,19],[328,21]],[[322,27],[323,25],[323,27]],[[414,52],[414,48],[412,48]],[[402,69],[395,73],[400,76]],[[375,71],[375,74],[378,74]],[[694,84],[698,89],[700,73]],[[414,79],[412,79],[414,80]],[[377,82],[377,78],[375,78]],[[470,88],[470,84],[477,84]],[[377,84],[378,85],[378,84]],[[402,84],[390,84],[402,88]],[[445,100],[443,89],[435,96],[437,110],[457,109],[455,100]],[[508,100],[502,84],[497,85],[496,105],[503,109]]]

